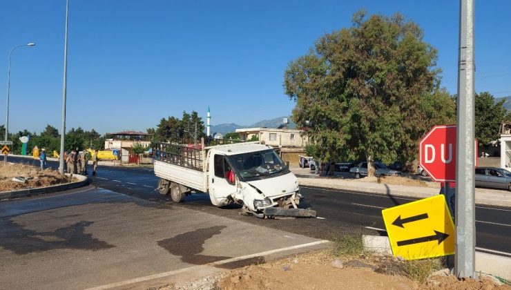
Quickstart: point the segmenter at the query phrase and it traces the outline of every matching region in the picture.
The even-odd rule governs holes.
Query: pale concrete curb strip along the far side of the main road
[[[392,184],[360,184],[356,186],[339,180],[298,177],[300,186],[315,186],[324,189],[357,191],[359,193],[376,193],[386,196],[425,198],[438,195],[438,189],[417,186],[396,186]],[[406,187],[406,189],[403,189]],[[476,191],[476,204],[511,207],[511,193],[481,193]]]

